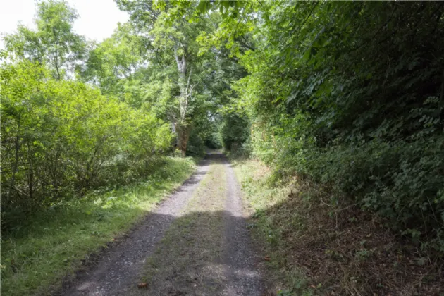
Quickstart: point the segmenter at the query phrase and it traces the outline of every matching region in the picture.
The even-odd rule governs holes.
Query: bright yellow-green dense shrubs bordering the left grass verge
[[[130,182],[171,142],[169,126],[143,108],[81,82],[54,80],[35,63],[4,63],[0,97],[6,228],[13,217],[64,197]]]

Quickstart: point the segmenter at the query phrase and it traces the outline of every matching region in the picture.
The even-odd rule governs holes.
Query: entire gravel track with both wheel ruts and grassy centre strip
[[[256,261],[233,169],[212,153],[59,295],[261,295]]]

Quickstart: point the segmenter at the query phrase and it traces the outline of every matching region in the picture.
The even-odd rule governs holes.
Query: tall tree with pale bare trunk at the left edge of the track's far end
[[[151,49],[150,63],[161,70],[166,85],[171,86],[171,98],[161,102],[165,115],[173,124],[177,145],[183,156],[187,151],[193,117],[197,116],[204,101],[202,73],[205,72],[205,56],[199,56],[197,36],[209,32],[212,27],[208,19],[190,23],[193,4],[152,1],[116,1],[118,6],[131,15],[132,23],[140,34],[147,38]],[[203,100],[203,101],[202,101]],[[202,114],[202,113],[201,113]]]

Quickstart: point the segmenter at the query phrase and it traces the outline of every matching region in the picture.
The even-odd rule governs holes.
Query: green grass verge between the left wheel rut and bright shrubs
[[[49,295],[82,259],[128,230],[195,170],[191,159],[165,157],[162,164],[141,183],[63,202],[4,235],[1,292]]]

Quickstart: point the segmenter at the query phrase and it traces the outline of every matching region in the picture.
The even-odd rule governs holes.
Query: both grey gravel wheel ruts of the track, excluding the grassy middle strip
[[[74,280],[63,284],[56,295],[129,295],[134,292],[144,273],[147,257],[154,254],[175,219],[184,215],[193,192],[209,171],[211,159],[222,161],[226,169],[226,201],[223,211],[221,264],[223,290],[218,295],[262,295],[261,277],[257,271],[259,258],[252,248],[242,208],[240,187],[233,168],[223,154],[209,154],[192,175],[170,198],[148,214],[121,242],[102,252],[96,263],[89,263],[86,271],[78,272]],[[220,238],[220,237],[219,237]],[[88,262],[87,262],[88,264]],[[137,290],[136,290],[137,291]],[[142,291],[140,291],[142,292]]]

